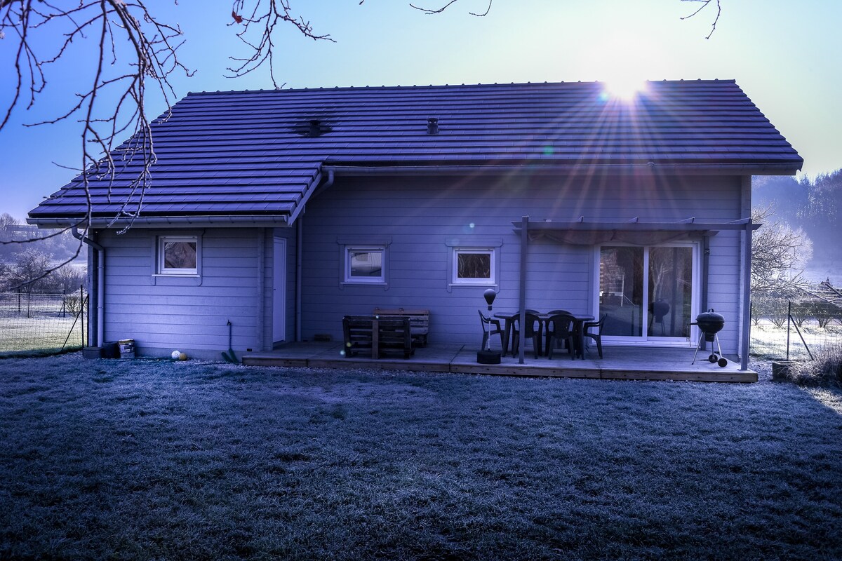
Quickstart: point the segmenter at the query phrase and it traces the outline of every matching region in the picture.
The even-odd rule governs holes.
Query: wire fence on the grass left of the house
[[[88,295],[0,293],[0,357],[84,346]]]

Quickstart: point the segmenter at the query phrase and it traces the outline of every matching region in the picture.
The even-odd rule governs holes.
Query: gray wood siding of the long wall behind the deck
[[[444,177],[338,177],[307,204],[303,235],[304,338],[329,333],[341,339],[341,318],[376,306],[431,312],[430,341],[481,340],[477,309],[484,287],[448,288],[450,247],[445,241],[496,238],[499,293],[495,310],[515,310],[520,290],[520,237],[512,220],[730,221],[740,216],[739,177],[518,177],[456,180]],[[339,238],[390,237],[388,287],[342,285]],[[483,246],[482,241],[476,244]],[[593,312],[594,249],[530,242],[527,306]],[[739,235],[711,238],[708,305],[738,316]],[[735,352],[737,322],[727,321],[722,347]]]

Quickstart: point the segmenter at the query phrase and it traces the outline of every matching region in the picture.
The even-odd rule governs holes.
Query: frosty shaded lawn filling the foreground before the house
[[[0,361],[0,558],[840,558],[791,384]]]

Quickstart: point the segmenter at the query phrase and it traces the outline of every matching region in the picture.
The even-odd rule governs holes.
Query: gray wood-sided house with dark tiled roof
[[[89,177],[92,341],[219,357],[229,329],[265,351],[403,307],[478,347],[493,288],[495,310],[607,313],[606,344],[686,346],[712,308],[746,368],[751,177],[802,158],[733,81],[603,86],[191,93],[153,124],[142,204],[137,161],[110,198]],[[77,177],[29,222],[87,209]]]

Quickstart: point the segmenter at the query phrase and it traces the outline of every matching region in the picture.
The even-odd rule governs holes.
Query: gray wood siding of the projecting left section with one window
[[[200,279],[153,276],[156,236],[197,232]],[[264,298],[259,298],[258,236],[265,236],[264,230],[135,228],[123,236],[101,233],[99,242],[106,248],[106,341],[134,339],[143,354],[179,349],[195,356],[212,352],[218,358],[228,348],[226,323],[231,320],[233,348],[257,350],[258,314],[265,315],[265,292],[271,289],[269,251],[269,278]],[[268,305],[264,333],[271,329],[271,299]]]

